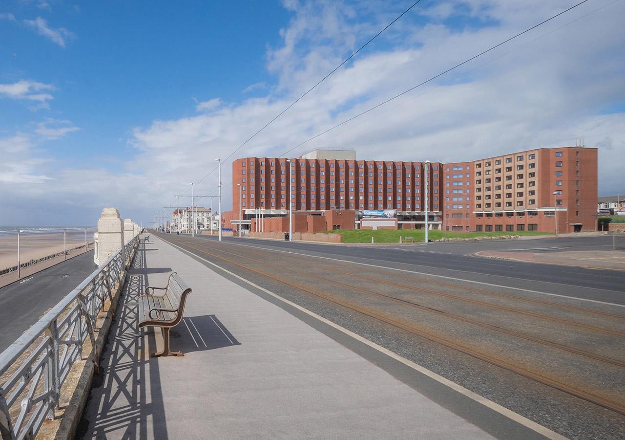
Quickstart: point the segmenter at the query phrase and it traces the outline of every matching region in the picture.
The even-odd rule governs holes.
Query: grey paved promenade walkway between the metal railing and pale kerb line
[[[137,297],[173,271],[193,289],[171,339],[185,356],[150,358],[162,339],[138,329]],[[235,281],[142,242],[77,437],[542,438],[420,372],[389,373],[387,354]]]

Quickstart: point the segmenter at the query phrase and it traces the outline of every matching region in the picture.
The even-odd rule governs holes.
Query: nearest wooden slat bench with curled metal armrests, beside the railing
[[[164,290],[163,295],[154,295],[155,290]],[[169,275],[165,287],[146,287],[146,294],[139,297],[139,328],[161,327],[163,329],[163,351],[151,356],[184,356],[182,352],[169,349],[169,330],[183,319],[184,304],[191,288],[174,272]]]

